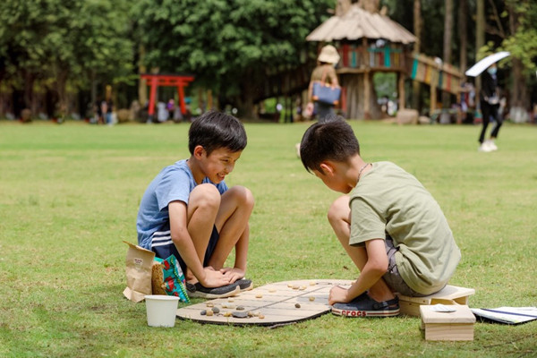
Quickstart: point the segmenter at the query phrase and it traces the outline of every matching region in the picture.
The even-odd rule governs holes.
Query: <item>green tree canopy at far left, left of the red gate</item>
[[[125,78],[132,69],[127,9],[125,0],[0,2],[0,81],[26,93],[35,81],[46,83],[64,107],[68,83]]]

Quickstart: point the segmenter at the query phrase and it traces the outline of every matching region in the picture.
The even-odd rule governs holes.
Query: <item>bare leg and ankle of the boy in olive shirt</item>
[[[347,255],[353,260],[354,265],[362,271],[367,262],[367,251],[364,247],[354,247],[349,244],[351,234],[351,209],[349,208],[349,197],[344,195],[338,198],[328,210],[328,222],[334,229],[337,239],[345,249]],[[380,278],[376,284],[370,287],[369,295],[372,299],[382,302],[394,298],[389,286],[384,279]]]

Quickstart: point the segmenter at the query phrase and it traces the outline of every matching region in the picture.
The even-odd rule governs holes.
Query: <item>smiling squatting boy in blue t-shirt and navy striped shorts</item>
[[[200,115],[189,130],[191,157],[162,169],[141,199],[139,245],[161,259],[175,255],[191,297],[227,297],[252,287],[243,277],[253,196],[224,181],[246,142],[234,116]],[[225,268],[233,249],[234,267]]]

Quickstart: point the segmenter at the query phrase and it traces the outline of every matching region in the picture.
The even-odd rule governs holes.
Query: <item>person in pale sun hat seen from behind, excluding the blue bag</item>
[[[308,115],[315,114],[319,122],[323,122],[328,115],[334,115],[334,106],[313,100],[313,82],[321,81],[332,86],[339,86],[337,73],[334,68],[339,62],[339,54],[336,47],[327,45],[320,50],[317,58],[317,67],[311,72],[310,86],[308,87]]]

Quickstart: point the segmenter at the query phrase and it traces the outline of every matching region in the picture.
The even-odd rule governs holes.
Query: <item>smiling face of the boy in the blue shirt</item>
[[[206,176],[213,183],[222,182],[226,175],[233,171],[234,165],[241,158],[242,153],[242,150],[231,151],[226,148],[218,148],[207,155],[207,151],[203,147],[196,147],[194,157],[198,159],[200,169],[199,173],[195,173],[195,170],[192,171],[196,183],[201,183]]]

